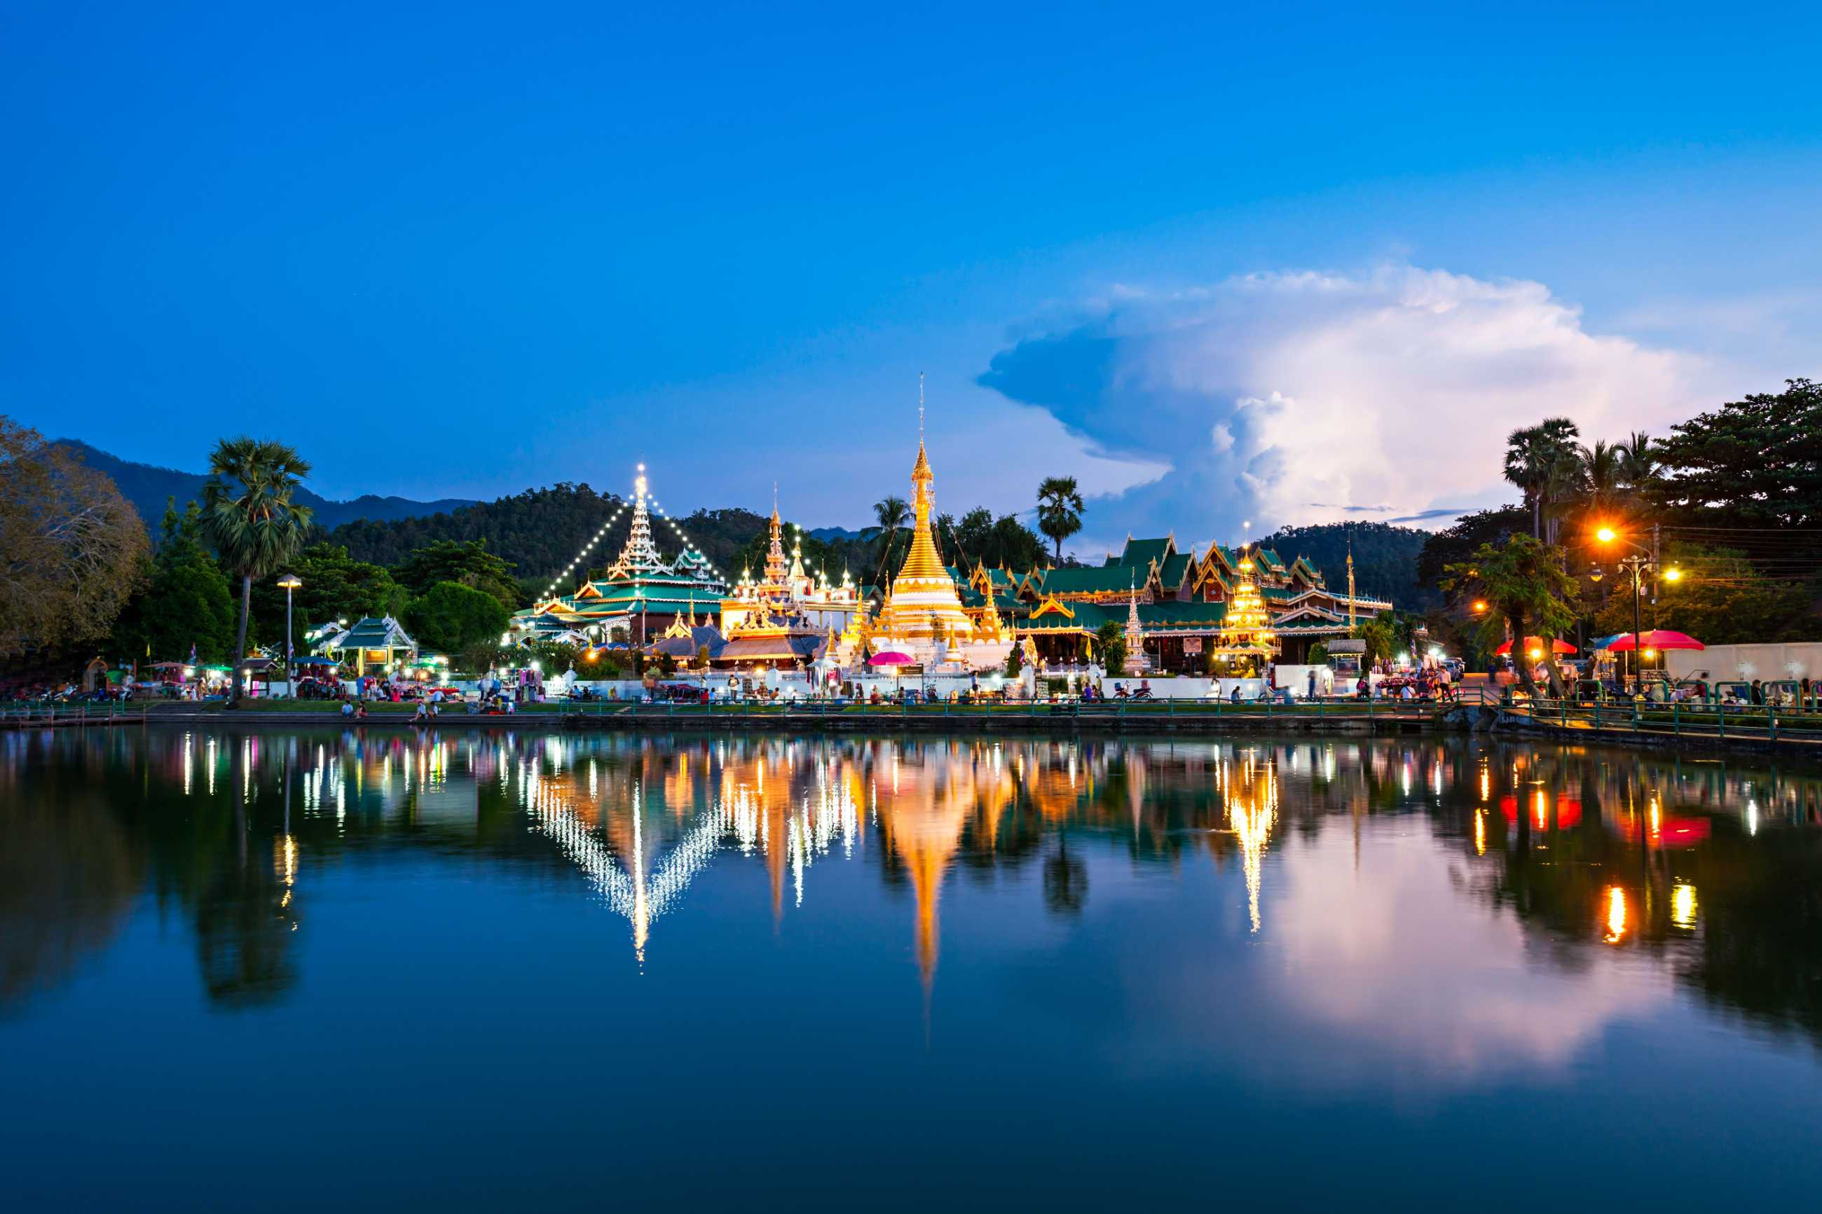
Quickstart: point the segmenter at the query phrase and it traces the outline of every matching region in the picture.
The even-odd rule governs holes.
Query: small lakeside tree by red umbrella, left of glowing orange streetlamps
[[[1487,648],[1500,644],[1505,628],[1514,648],[1523,648],[1527,637],[1543,641],[1551,692],[1561,693],[1551,642],[1574,626],[1580,592],[1563,568],[1563,550],[1532,535],[1507,535],[1503,544],[1481,544],[1469,561],[1448,564],[1443,573],[1443,590],[1489,602],[1479,628]],[[1514,653],[1512,664],[1525,692],[1536,695],[1530,663]]]

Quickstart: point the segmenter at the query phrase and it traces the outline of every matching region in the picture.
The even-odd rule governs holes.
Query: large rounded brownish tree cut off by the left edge
[[[0,653],[106,637],[146,546],[113,481],[0,417]]]

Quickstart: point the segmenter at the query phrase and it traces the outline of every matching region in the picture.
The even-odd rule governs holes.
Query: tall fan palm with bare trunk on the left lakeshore
[[[253,579],[271,577],[310,535],[312,510],[293,495],[310,462],[293,448],[264,439],[222,439],[202,484],[202,537],[220,562],[241,575],[241,630],[233,650],[233,697],[241,701],[241,659],[253,606]]]

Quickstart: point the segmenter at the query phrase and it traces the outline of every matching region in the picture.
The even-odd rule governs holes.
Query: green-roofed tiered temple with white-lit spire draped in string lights
[[[670,530],[681,542],[681,551],[674,561],[665,561],[652,541],[649,506],[645,464],[640,464],[632,482],[632,528],[625,548],[601,577],[581,582],[572,593],[558,593],[565,577],[574,575],[578,568],[587,570],[589,553],[619,521],[625,510],[621,504],[576,553],[568,568],[552,579],[543,597],[512,617],[514,637],[599,644],[609,641],[614,632],[623,632],[629,642],[645,644],[663,635],[678,621],[687,621],[687,626],[694,626],[698,615],[703,622],[712,621],[714,612],[722,610],[727,582],[701,550],[669,519]]]

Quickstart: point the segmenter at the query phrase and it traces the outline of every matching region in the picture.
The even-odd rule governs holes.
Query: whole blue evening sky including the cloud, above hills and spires
[[[0,410],[319,491],[1126,530],[1818,375],[1811,7],[9,5]]]

